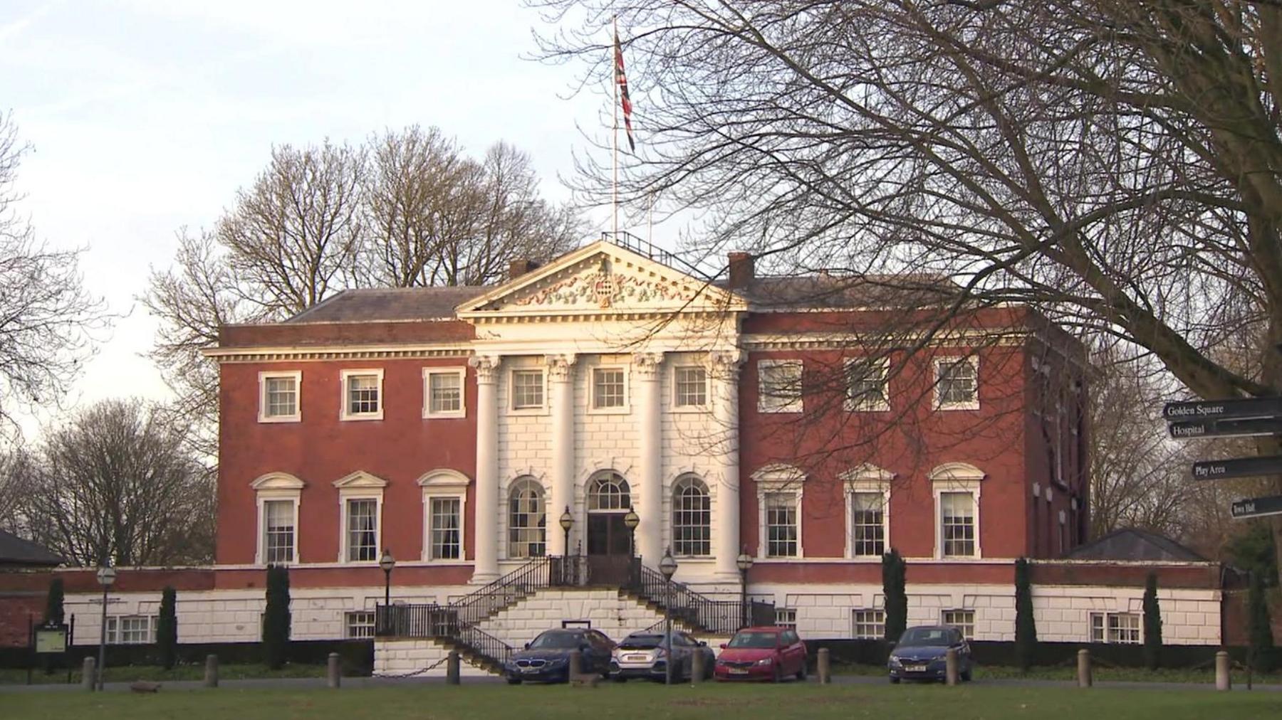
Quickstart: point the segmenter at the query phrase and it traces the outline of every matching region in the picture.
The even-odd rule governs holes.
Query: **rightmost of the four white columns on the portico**
[[[717,579],[738,584],[738,366],[744,354],[733,350],[712,354],[713,418],[720,433],[720,478],[717,479],[717,512],[713,525],[713,555]]]

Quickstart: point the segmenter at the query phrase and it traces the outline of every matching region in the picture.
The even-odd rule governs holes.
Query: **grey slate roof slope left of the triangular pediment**
[[[492,287],[386,287],[345,290],[308,307],[286,323],[351,323],[363,320],[432,320],[454,318],[454,307]]]

